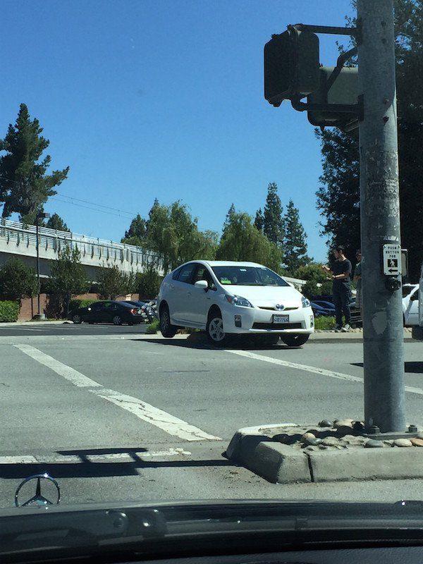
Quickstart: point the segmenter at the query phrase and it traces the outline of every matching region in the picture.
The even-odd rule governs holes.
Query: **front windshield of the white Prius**
[[[264,266],[213,266],[214,274],[224,286],[289,286],[281,276],[278,276]]]

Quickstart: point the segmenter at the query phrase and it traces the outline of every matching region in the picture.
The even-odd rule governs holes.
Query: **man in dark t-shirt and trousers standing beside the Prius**
[[[335,262],[333,266],[323,266],[324,271],[332,274],[333,280],[333,305],[335,306],[336,327],[335,331],[349,331],[351,329],[350,294],[351,272],[353,266],[345,257],[345,248],[342,245],[333,249]],[[345,325],[342,326],[342,314],[345,316]]]

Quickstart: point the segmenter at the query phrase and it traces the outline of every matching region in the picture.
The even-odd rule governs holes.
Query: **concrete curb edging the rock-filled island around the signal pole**
[[[274,484],[423,477],[423,448],[298,451],[263,434],[271,427],[283,424],[238,429],[226,457]]]

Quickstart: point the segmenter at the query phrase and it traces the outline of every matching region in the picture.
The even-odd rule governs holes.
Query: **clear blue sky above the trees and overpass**
[[[71,167],[46,209],[77,233],[120,240],[155,197],[220,231],[231,202],[254,215],[276,182],[323,259],[319,143],[304,113],[264,100],[262,49],[289,23],[348,13],[349,0],[4,0],[0,135],[25,102],[53,168]],[[336,38],[320,37],[334,64]]]

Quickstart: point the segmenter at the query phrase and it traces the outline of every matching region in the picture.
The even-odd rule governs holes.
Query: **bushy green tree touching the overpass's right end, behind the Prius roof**
[[[147,220],[146,247],[164,258],[164,270],[193,259],[213,259],[217,235],[198,230],[197,218],[192,218],[181,202],[170,206],[154,202]]]

